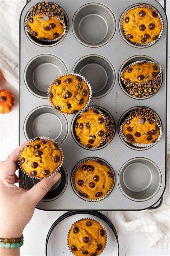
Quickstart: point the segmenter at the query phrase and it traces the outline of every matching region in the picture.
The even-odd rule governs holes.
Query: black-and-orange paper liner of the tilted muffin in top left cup
[[[42,9],[42,8],[41,8],[41,7],[43,7],[43,5],[42,5],[43,3],[48,3],[48,4],[50,5],[48,11],[45,11],[45,9]],[[40,5],[39,5],[39,4],[40,4]],[[56,14],[55,12],[52,12],[52,11],[50,10],[53,5],[55,5],[55,8],[57,9],[57,14]],[[39,6],[40,6],[40,7],[39,7]],[[59,15],[58,15],[58,14],[59,14]],[[63,31],[62,35],[61,35],[60,37],[57,37],[56,39],[52,39],[52,40],[37,38],[36,36],[34,36],[34,35],[30,32],[29,28],[27,27],[27,22],[28,22],[28,20],[29,20],[30,18],[32,18],[32,17],[34,17],[34,16],[36,16],[36,15],[48,15],[49,17],[54,17],[54,18],[58,19],[58,20],[60,21],[60,23],[62,23],[63,28],[64,28],[64,31]],[[25,20],[25,24],[24,24],[24,25],[25,25],[25,30],[26,30],[30,35],[32,35],[33,37],[35,37],[35,38],[37,38],[38,40],[43,41],[43,42],[56,42],[56,41],[60,40],[60,39],[66,34],[66,32],[67,32],[67,28],[66,28],[66,24],[65,24],[65,16],[64,16],[64,14],[63,14],[63,11],[62,11],[61,7],[58,6],[56,3],[47,2],[47,1],[39,2],[39,3],[35,4],[35,5],[32,7],[32,9],[31,9],[31,11],[30,11],[30,13],[29,13],[27,19]]]

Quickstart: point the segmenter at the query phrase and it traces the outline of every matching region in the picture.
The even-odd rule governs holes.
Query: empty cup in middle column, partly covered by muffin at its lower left
[[[115,70],[112,63],[100,55],[88,55],[80,59],[73,68],[74,73],[88,77],[93,95],[100,98],[108,94],[115,83]]]

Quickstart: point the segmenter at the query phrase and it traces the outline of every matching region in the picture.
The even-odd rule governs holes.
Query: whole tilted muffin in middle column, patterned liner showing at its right
[[[89,149],[97,148],[112,139],[114,123],[106,113],[88,107],[76,118],[75,134],[80,144]]]

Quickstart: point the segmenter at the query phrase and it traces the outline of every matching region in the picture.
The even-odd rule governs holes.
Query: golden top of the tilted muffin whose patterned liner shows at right
[[[82,145],[96,147],[103,139],[105,131],[104,118],[97,109],[89,109],[77,117],[75,132]]]

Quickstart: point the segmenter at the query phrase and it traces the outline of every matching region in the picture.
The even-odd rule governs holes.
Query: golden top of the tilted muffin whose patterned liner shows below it
[[[135,63],[123,74],[123,78],[127,82],[131,83],[143,83],[154,79],[160,73],[160,68],[155,63],[143,61],[141,63]]]

